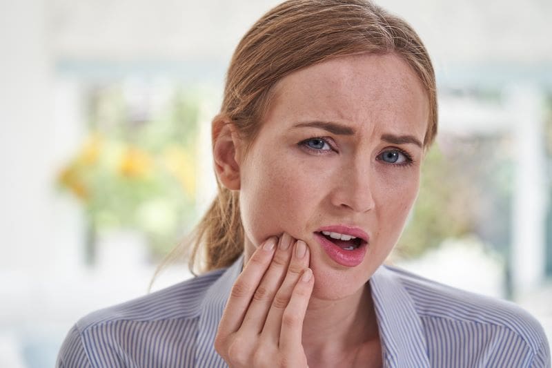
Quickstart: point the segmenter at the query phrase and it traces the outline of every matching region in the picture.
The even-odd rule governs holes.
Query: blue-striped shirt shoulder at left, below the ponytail
[[[152,362],[159,358],[152,356],[156,351],[152,349],[154,346],[165,352],[181,351],[179,354],[185,356],[194,343],[204,297],[224,271],[226,269],[199,275],[88,314],[66,336],[57,366],[108,367],[125,365],[127,360],[146,359],[146,356],[148,360],[145,361]]]

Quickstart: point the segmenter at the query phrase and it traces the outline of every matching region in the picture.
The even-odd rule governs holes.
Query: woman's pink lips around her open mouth
[[[337,246],[330,240],[326,239],[326,237],[322,235],[322,231],[353,235],[361,239],[362,244],[357,249],[346,251],[345,249],[342,249],[340,246]],[[324,226],[323,228],[319,229],[319,231],[315,232],[315,238],[316,240],[318,240],[324,251],[326,251],[328,257],[330,257],[337,264],[345,267],[356,267],[362,263],[362,261],[364,260],[364,256],[366,255],[366,249],[368,248],[369,240],[368,234],[365,231],[362,231],[361,229],[355,227],[344,225]]]

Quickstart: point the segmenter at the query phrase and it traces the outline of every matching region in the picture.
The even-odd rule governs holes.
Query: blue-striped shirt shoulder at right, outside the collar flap
[[[479,349],[478,354],[488,354],[487,358],[494,354],[498,359],[495,363],[511,360],[511,354],[518,354],[525,362],[539,357],[550,359],[544,329],[513,302],[449,287],[395,267],[386,268],[411,298],[424,326],[428,349],[450,352],[456,342],[461,342],[458,349],[464,351],[458,354]]]

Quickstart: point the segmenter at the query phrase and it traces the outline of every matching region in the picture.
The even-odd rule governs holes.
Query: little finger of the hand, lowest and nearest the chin
[[[306,269],[291,294],[288,306],[282,316],[279,347],[284,354],[291,354],[302,344],[303,321],[314,287],[313,271]],[[286,353],[287,352],[287,353]]]

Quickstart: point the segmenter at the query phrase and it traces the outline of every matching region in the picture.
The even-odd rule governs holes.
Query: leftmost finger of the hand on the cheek
[[[219,323],[218,335],[226,336],[237,331],[242,325],[253,293],[273,258],[276,242],[277,238],[268,238],[251,255],[249,262],[232,287],[230,298],[226,302],[226,308]]]

